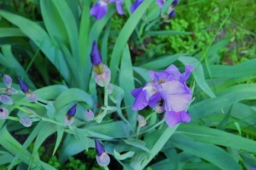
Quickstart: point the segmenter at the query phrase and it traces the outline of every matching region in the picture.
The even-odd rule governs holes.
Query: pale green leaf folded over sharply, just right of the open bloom
[[[193,76],[195,77],[196,84],[201,88],[202,91],[204,91],[208,96],[211,98],[215,97],[215,94],[212,92],[209,85],[206,83],[204,78],[204,69],[203,66],[199,63],[198,59],[194,57],[179,57],[178,59],[180,62],[182,62],[184,65],[192,65],[194,68],[197,68],[198,64],[198,70],[195,74],[195,71],[192,71]]]

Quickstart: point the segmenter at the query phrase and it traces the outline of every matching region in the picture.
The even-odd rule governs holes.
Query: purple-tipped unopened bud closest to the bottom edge
[[[110,163],[110,157],[108,153],[106,153],[102,144],[99,143],[97,139],[95,139],[95,149],[96,149],[96,160],[101,167],[106,167]]]

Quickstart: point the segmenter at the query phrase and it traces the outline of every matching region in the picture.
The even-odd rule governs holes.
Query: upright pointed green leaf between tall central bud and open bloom
[[[128,44],[125,45],[122,54],[119,85],[125,91],[124,102],[126,106],[131,106],[134,103],[134,97],[131,96],[131,91],[135,88],[133,68],[131,63],[131,54]],[[135,131],[137,125],[138,111],[133,111],[131,108],[126,108],[128,121],[131,124],[132,130]]]

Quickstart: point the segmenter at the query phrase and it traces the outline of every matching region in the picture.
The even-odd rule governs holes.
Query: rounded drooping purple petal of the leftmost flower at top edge
[[[108,13],[108,4],[99,1],[97,2],[91,9],[90,9],[90,15],[95,17],[97,20],[102,19],[102,17],[105,16],[105,14]]]

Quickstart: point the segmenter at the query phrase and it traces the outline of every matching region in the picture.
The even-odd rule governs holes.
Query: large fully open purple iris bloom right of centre
[[[193,69],[186,65],[185,72],[181,74],[175,65],[170,65],[165,71],[149,71],[151,81],[131,91],[135,98],[132,109],[141,110],[149,105],[157,113],[166,111],[165,120],[170,127],[180,122],[188,123],[189,112],[184,110],[189,105],[192,94],[191,89],[186,86],[186,79]]]

